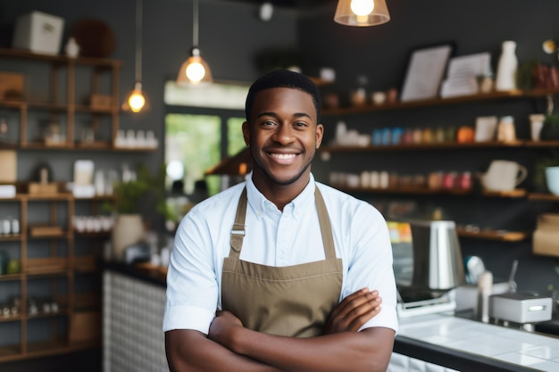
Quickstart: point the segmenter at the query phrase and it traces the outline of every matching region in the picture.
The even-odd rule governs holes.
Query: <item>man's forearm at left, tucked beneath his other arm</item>
[[[229,351],[204,334],[191,330],[166,332],[165,350],[171,372],[285,372]]]

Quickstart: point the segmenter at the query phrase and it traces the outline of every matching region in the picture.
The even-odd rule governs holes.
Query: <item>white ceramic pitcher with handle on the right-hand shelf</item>
[[[487,190],[512,191],[526,178],[528,170],[514,161],[491,161],[487,173],[481,176],[481,183]]]

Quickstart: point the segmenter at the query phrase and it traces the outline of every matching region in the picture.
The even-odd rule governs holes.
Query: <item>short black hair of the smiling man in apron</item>
[[[313,80],[305,77],[305,75],[292,70],[273,70],[256,79],[253,85],[248,89],[245,103],[246,121],[250,123],[250,117],[253,110],[254,97],[264,89],[274,87],[290,87],[308,93],[313,97],[314,108],[316,109],[316,122],[321,122],[321,92]]]

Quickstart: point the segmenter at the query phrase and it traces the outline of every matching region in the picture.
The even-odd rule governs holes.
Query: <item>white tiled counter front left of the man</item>
[[[104,271],[104,372],[169,372],[162,330],[165,288]]]

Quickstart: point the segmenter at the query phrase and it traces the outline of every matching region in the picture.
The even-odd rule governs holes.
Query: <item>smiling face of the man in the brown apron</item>
[[[254,158],[254,176],[285,186],[308,175],[323,134],[313,97],[287,87],[264,89],[254,97],[251,114],[243,135]]]

